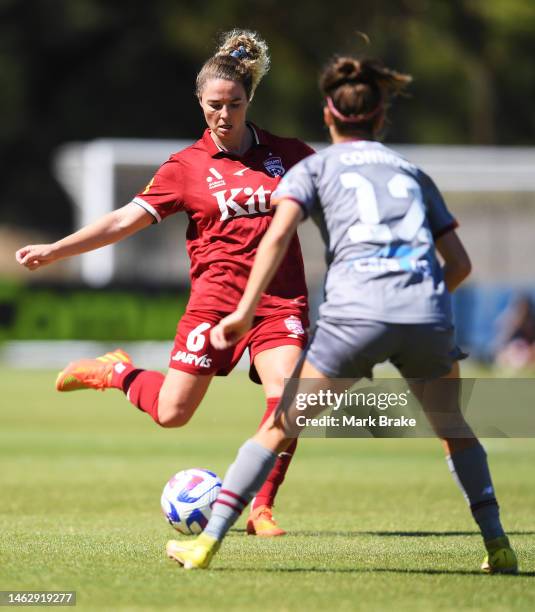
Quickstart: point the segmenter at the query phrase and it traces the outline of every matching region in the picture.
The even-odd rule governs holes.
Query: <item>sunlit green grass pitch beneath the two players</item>
[[[435,440],[301,440],[281,490],[284,538],[244,519],[210,570],[168,561],[159,508],[176,471],[223,475],[263,410],[236,373],[187,428],[107,391],[0,374],[0,590],[75,590],[83,610],[533,610],[535,440],[487,440],[522,574],[485,576],[480,536]]]

